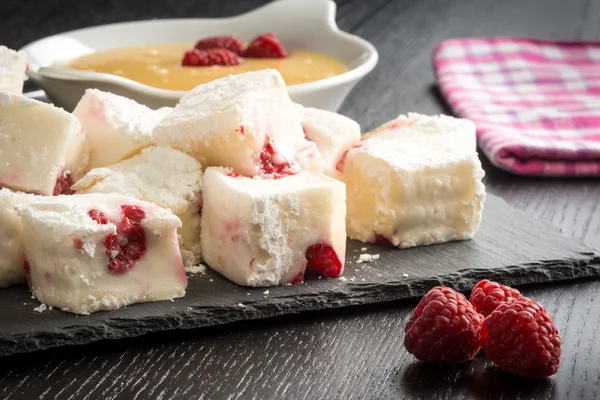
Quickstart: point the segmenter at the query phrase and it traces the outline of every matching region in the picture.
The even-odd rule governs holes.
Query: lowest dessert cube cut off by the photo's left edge
[[[17,205],[27,205],[35,195],[0,189],[0,287],[25,282],[25,250]]]

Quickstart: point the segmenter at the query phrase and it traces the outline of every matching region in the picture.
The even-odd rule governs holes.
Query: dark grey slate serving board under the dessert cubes
[[[361,253],[380,258],[357,264]],[[34,311],[39,303],[26,287],[1,289],[0,356],[416,297],[439,284],[469,290],[484,278],[519,285],[600,275],[600,257],[589,248],[495,196],[488,196],[481,227],[471,241],[407,250],[349,241],[346,258],[342,279],[309,278],[301,285],[274,288],[240,287],[207,268],[190,276],[183,299],[90,316],[39,313]]]

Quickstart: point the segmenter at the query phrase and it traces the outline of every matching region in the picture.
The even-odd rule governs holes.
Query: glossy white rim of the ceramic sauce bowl
[[[315,2],[315,0],[312,0],[311,2]],[[361,50],[363,50],[363,52],[367,55],[367,57],[364,57],[364,59],[361,60],[360,64],[356,65],[355,67],[353,67],[351,69],[348,69],[348,71],[346,71],[342,74],[332,76],[329,78],[319,79],[317,81],[289,85],[288,92],[290,93],[290,95],[292,95],[292,94],[294,94],[294,95],[307,94],[307,93],[311,93],[314,91],[318,91],[318,90],[322,90],[322,89],[326,89],[326,88],[330,88],[330,87],[334,87],[334,86],[344,85],[349,82],[358,81],[362,77],[367,75],[369,72],[371,72],[373,70],[373,68],[375,68],[375,66],[377,65],[377,62],[379,60],[379,55],[377,53],[375,46],[373,46],[370,42],[368,42],[367,40],[365,40],[357,35],[342,31],[337,26],[337,23],[335,21],[337,6],[333,0],[317,0],[315,3],[319,3],[319,2],[322,5],[324,4],[326,7],[326,15],[324,16],[324,21],[325,21],[326,27],[329,30],[329,34],[331,34],[332,36],[335,36],[338,40],[343,39],[347,43],[351,43],[353,46],[355,46],[357,48],[360,47]],[[284,4],[284,3],[287,3],[287,4]],[[253,15],[253,14],[259,14],[261,12],[265,12],[268,9],[273,9],[273,8],[282,7],[282,6],[288,6],[290,3],[310,4],[310,3],[306,3],[304,0],[276,0],[271,3],[265,4],[263,6],[257,7],[253,10],[250,10],[248,12],[230,16],[230,17],[144,19],[144,20],[124,21],[124,22],[115,22],[115,23],[109,23],[109,24],[88,26],[88,27],[84,27],[84,28],[73,29],[70,31],[57,33],[57,34],[50,35],[50,36],[45,36],[43,38],[40,38],[40,39],[37,39],[37,40],[27,43],[26,45],[21,47],[19,49],[19,51],[24,51],[26,53],[29,53],[32,47],[39,45],[41,42],[48,40],[52,37],[60,37],[60,36],[72,37],[74,34],[82,34],[82,33],[87,33],[90,31],[93,32],[94,30],[118,28],[118,27],[123,27],[123,26],[127,26],[127,25],[135,26],[135,25],[146,25],[146,24],[177,24],[177,23],[200,23],[200,22],[206,23],[206,22],[217,22],[217,21],[218,22],[234,22],[236,20],[247,18],[248,16]],[[313,3],[313,4],[315,4],[315,3]],[[111,47],[111,48],[118,48],[118,47]],[[43,66],[43,67],[52,68],[51,66]],[[156,88],[156,87],[153,87],[150,85],[146,85],[144,83],[140,83],[140,82],[128,79],[128,78],[123,78],[118,75],[113,75],[113,74],[108,74],[108,73],[97,73],[97,72],[89,72],[89,71],[82,71],[82,72],[87,72],[86,75],[88,75],[88,76],[86,77],[86,80],[95,80],[95,81],[102,81],[102,82],[113,83],[113,84],[118,84],[118,85],[125,85],[125,86],[129,86],[133,90],[136,90],[138,92],[145,92],[146,94],[152,95],[152,96],[161,96],[161,97],[167,97],[167,98],[181,98],[183,95],[185,95],[188,92],[185,90],[170,90],[170,89]],[[74,79],[77,80],[77,78],[74,78]]]

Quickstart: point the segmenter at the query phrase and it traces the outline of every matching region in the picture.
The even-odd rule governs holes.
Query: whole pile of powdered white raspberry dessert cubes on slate
[[[22,78],[19,57],[0,59]],[[412,247],[479,225],[467,120],[408,114],[361,138],[351,119],[294,104],[275,70],[200,85],[173,109],[90,89],[68,113],[24,97],[11,73],[11,90],[0,76],[0,286],[28,282],[48,306],[182,297],[201,262],[244,286],[337,277],[347,236]]]

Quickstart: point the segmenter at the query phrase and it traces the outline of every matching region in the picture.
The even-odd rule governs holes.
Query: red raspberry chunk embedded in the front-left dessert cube
[[[146,235],[141,221],[146,216],[137,206],[121,206],[123,218],[117,225],[117,234],[111,233],[104,239],[106,255],[110,258],[108,268],[115,273],[124,273],[146,254]]]

